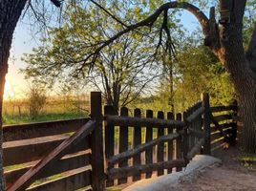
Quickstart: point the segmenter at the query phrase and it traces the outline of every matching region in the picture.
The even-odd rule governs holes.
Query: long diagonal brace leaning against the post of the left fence
[[[40,160],[27,173],[15,181],[8,191],[25,190],[34,180],[43,173],[45,169],[53,162],[58,161],[66,155],[75,145],[82,139],[86,138],[95,129],[95,122],[88,121],[80,128],[72,137],[65,139],[59,146],[57,146],[49,155]]]

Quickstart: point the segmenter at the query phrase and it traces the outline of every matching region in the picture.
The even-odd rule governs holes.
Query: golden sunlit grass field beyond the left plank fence
[[[32,118],[28,100],[6,100],[3,106],[4,124],[22,124],[50,120],[88,117],[89,98],[83,97],[48,97],[37,117]]]

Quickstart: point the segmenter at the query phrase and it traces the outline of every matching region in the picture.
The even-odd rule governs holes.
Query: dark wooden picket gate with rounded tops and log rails
[[[153,117],[150,110],[141,117],[139,109],[128,117],[125,107],[119,116],[113,113],[111,106],[105,107],[107,186],[181,171],[196,154],[210,155],[207,95],[176,117],[163,112]]]

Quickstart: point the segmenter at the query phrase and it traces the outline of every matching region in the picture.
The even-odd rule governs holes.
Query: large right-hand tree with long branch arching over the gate
[[[169,34],[166,19],[169,10],[191,12],[199,21],[204,35],[204,45],[209,47],[223,63],[238,96],[241,119],[244,123],[242,145],[245,152],[256,153],[256,27],[251,34],[248,48],[243,41],[243,18],[246,0],[220,0],[220,21],[216,21],[215,9],[210,9],[209,17],[196,5],[177,1],[162,4],[157,11],[147,18],[117,32],[105,42],[96,45],[94,53],[89,53],[85,61],[92,63],[102,49],[127,32],[151,28],[163,16],[160,34]],[[161,36],[161,35],[160,35]]]

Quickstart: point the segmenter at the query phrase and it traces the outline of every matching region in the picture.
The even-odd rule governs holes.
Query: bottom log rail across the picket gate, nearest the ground
[[[185,165],[183,159],[174,159],[172,161],[162,161],[158,163],[143,164],[139,166],[127,166],[122,168],[112,168],[107,175],[112,179],[119,179],[133,176],[135,174],[147,173],[151,171],[159,171],[160,169],[169,169],[174,167],[182,167]]]

